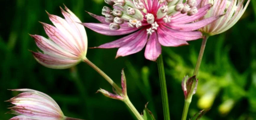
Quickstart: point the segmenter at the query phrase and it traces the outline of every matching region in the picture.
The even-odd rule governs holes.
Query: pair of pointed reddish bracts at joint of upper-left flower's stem
[[[125,78],[123,70],[122,70],[122,76],[121,76],[121,84],[122,84],[121,92],[118,92],[118,91],[114,90],[114,88],[113,88],[113,91],[115,93],[115,94],[113,94],[111,92],[108,92],[108,91],[100,88],[96,93],[102,93],[103,95],[105,95],[108,98],[123,101],[127,97],[126,78]]]

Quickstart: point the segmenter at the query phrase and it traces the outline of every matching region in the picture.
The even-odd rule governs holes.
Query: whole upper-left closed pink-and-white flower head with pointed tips
[[[86,58],[86,31],[81,24],[77,23],[81,22],[80,19],[66,6],[65,9],[67,12],[61,8],[65,19],[48,13],[55,27],[41,22],[48,39],[39,35],[31,35],[36,45],[43,51],[43,53],[32,53],[36,60],[45,67],[65,69]]]

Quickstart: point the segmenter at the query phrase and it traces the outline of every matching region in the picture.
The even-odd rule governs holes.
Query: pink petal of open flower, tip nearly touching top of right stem
[[[160,25],[162,30],[167,31],[166,34],[185,41],[191,41],[191,40],[197,40],[199,38],[202,38],[202,33],[198,31],[192,31],[192,32],[180,32],[173,29],[169,29],[163,25]]]

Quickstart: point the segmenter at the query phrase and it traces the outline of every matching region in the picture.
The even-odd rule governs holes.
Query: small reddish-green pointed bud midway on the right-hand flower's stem
[[[192,96],[195,94],[197,89],[198,80],[195,76],[185,76],[182,80],[182,90],[184,92],[185,100],[191,101]]]

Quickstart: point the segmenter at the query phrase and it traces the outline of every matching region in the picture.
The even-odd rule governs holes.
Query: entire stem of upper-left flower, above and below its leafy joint
[[[94,70],[96,70],[101,76],[103,76],[116,89],[118,94],[122,94],[122,89],[108,75],[106,75],[106,73],[104,73],[101,69],[99,69],[95,64],[93,64],[87,58],[83,59],[83,61],[86,62],[89,66],[91,66]],[[133,106],[128,96],[126,96],[123,102],[129,107],[129,109],[133,112],[133,114],[136,116],[138,120],[143,120],[142,116]]]

